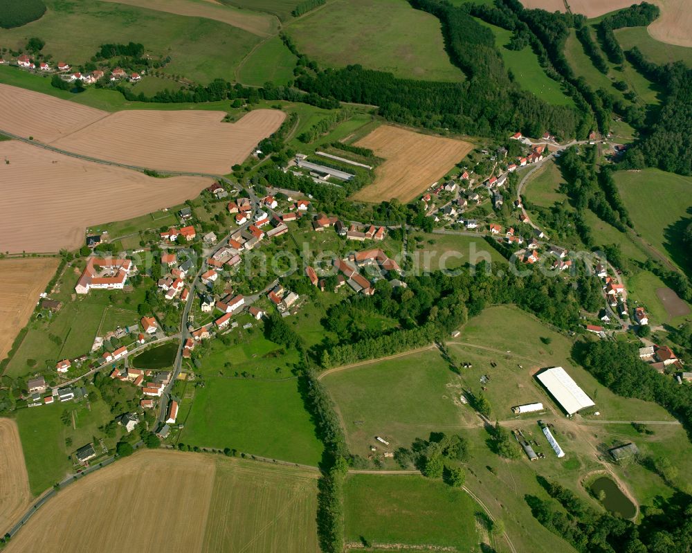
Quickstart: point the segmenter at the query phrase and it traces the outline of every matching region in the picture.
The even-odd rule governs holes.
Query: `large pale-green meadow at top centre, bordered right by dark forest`
[[[464,80],[444,50],[439,21],[406,0],[336,0],[286,31],[320,66],[361,64],[399,78]]]

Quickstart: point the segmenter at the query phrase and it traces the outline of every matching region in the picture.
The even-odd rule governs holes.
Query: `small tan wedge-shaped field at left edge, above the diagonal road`
[[[107,111],[0,84],[0,130],[52,142],[106,117]]]

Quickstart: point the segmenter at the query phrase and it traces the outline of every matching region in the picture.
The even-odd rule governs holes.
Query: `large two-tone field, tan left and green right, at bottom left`
[[[318,552],[318,472],[307,472],[140,451],[60,491],[6,551]]]

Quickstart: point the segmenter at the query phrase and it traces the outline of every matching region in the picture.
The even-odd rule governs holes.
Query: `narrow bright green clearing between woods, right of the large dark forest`
[[[526,46],[519,51],[508,50],[504,45],[509,44],[511,40],[511,30],[491,25],[480,19],[477,21],[493,31],[495,47],[502,54],[504,65],[513,73],[516,82],[523,89],[534,93],[549,104],[574,106],[574,101],[569,96],[565,96],[560,83],[545,74],[543,67],[538,63],[538,56],[531,50],[531,46]]]

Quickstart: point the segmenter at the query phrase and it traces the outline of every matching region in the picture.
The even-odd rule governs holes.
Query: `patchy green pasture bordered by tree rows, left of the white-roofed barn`
[[[433,431],[475,422],[459,401],[462,381],[434,349],[329,372],[323,382],[336,403],[350,451],[396,451]],[[390,442],[384,446],[376,436]]]

